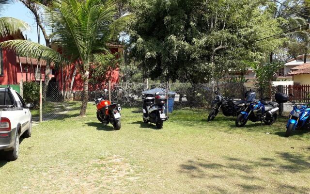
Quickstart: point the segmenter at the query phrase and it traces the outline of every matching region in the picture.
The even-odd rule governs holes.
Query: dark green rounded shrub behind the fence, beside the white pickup
[[[34,103],[36,106],[40,99],[40,86],[36,82],[23,83],[23,97],[26,103]]]

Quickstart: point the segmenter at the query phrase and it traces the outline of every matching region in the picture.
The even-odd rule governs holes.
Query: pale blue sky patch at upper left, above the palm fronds
[[[27,34],[28,39],[31,39],[33,42],[38,42],[37,26],[34,16],[21,2],[14,1],[13,4],[6,5],[4,7],[4,10],[2,11],[1,16],[15,17],[17,19],[21,19],[27,22],[31,26],[31,31],[24,32],[24,37],[26,37]],[[42,32],[40,35],[40,44],[45,45],[45,40]]]

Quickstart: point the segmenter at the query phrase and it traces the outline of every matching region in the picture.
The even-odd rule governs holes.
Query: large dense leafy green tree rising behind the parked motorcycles
[[[131,54],[153,79],[208,82],[262,61],[282,32],[261,0],[132,0]]]

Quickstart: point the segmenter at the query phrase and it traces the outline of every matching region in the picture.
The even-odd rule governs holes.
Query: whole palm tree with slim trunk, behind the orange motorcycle
[[[84,95],[80,115],[85,116],[88,102],[89,66],[100,63],[101,55],[109,53],[107,43],[117,38],[124,29],[125,22],[132,16],[118,13],[113,0],[52,0],[45,7],[47,23],[53,27],[52,44],[62,49],[62,54],[46,46],[26,40],[11,40],[2,46],[15,49],[17,53],[50,59],[57,64],[78,62],[79,72],[84,82]]]

